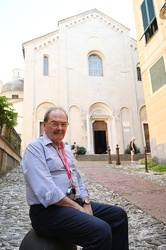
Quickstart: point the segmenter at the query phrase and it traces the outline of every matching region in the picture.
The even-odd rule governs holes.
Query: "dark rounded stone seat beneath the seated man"
[[[23,238],[19,250],[77,250],[71,242],[51,239],[31,229]]]

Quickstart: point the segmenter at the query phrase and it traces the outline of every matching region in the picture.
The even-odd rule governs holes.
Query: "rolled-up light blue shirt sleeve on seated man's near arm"
[[[48,207],[65,197],[64,193],[54,183],[45,159],[45,152],[41,144],[29,144],[21,167],[24,173],[27,199]]]

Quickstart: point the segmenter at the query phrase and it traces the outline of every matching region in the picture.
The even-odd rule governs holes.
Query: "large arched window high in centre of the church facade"
[[[90,76],[103,76],[102,59],[98,55],[90,55],[88,58],[88,63]]]

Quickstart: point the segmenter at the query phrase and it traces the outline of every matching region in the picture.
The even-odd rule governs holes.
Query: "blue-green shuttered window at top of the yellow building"
[[[142,20],[146,43],[158,29],[153,0],[144,0],[141,5]],[[142,37],[143,37],[142,36]]]

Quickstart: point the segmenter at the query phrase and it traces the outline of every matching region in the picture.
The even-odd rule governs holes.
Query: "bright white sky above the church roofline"
[[[22,44],[58,29],[58,21],[98,9],[130,29],[136,39],[132,0],[0,0],[0,80],[24,69]]]

